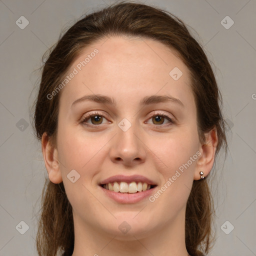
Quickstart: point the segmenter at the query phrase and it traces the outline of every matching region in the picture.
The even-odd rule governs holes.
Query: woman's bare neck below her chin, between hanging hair
[[[119,233],[107,233],[97,229],[91,223],[84,223],[73,215],[74,251],[72,256],[111,255],[111,256],[184,256],[188,255],[185,247],[184,219],[182,210],[175,220],[157,226],[152,230],[135,232],[132,228],[120,236]],[[81,224],[82,223],[82,224]]]

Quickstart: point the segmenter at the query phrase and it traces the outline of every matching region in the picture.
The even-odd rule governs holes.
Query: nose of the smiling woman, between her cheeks
[[[131,124],[126,130],[121,122],[116,126],[116,135],[112,139],[109,156],[112,162],[133,166],[145,161],[146,145],[143,142],[142,130]]]

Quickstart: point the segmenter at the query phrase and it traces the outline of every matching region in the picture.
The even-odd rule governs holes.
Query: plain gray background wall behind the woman
[[[0,256],[36,255],[36,217],[46,169],[28,109],[40,78],[42,54],[64,27],[112,2],[0,0]],[[256,1],[144,2],[166,8],[197,31],[189,28],[204,46],[222,92],[223,113],[231,129],[229,152],[226,161],[220,158],[216,165],[212,186],[217,239],[209,255],[256,255]],[[24,29],[15,23],[22,15],[29,21]],[[227,15],[234,21],[229,29],[221,24]],[[226,18],[222,22],[231,24]],[[20,221],[29,226],[24,234],[19,232],[25,228]]]

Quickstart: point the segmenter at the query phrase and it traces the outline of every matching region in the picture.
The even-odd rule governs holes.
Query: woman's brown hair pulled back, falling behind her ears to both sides
[[[61,83],[84,47],[114,35],[155,39],[178,53],[190,72],[200,142],[205,142],[205,132],[215,129],[218,137],[215,156],[223,145],[226,153],[221,94],[202,47],[175,15],[158,7],[127,1],[112,4],[79,19],[50,49],[34,102],[33,120],[37,138],[41,140],[43,132],[46,132],[55,145],[60,93],[51,99],[47,95]],[[185,244],[188,253],[193,256],[206,254],[213,238],[211,224],[214,208],[207,179],[193,181],[186,204]],[[36,235],[38,254],[55,256],[61,250],[63,255],[71,255],[73,246],[72,208],[63,182],[54,184],[46,178]]]

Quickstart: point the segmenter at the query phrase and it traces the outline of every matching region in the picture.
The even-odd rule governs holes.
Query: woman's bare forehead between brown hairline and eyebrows
[[[68,105],[86,94],[127,102],[151,94],[191,98],[188,68],[174,50],[153,39],[101,38],[80,52],[66,74],[70,73],[75,74],[60,97],[60,103]]]

